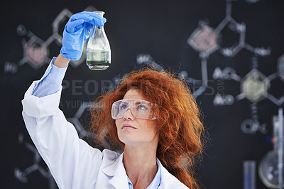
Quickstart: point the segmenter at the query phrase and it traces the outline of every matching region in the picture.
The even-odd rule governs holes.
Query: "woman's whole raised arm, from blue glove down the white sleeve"
[[[94,25],[105,20],[95,13],[73,15],[63,32],[62,48],[39,81],[28,88],[23,119],[40,156],[59,188],[94,188],[102,153],[79,139],[76,129],[59,109],[61,82],[70,60],[78,60]]]

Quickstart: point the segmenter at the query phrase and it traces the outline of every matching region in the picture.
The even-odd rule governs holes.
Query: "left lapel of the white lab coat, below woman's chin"
[[[107,166],[102,169],[102,171],[111,176],[112,178],[109,180],[109,183],[114,186],[114,188],[122,189],[129,188],[129,182],[127,180],[126,171],[124,168],[124,164],[122,163],[123,154],[119,156],[119,158],[114,161],[110,166]]]

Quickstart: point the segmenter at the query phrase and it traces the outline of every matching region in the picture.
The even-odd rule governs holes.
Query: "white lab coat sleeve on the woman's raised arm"
[[[59,188],[90,188],[97,182],[102,153],[79,139],[59,109],[61,90],[35,97],[33,82],[22,100],[23,119],[40,156]]]

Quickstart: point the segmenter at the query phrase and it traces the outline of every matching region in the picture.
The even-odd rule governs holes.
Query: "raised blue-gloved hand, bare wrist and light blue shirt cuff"
[[[44,97],[60,90],[68,63],[70,60],[81,58],[84,43],[87,41],[90,31],[94,26],[103,26],[105,22],[105,18],[94,12],[83,11],[71,16],[63,31],[60,55],[54,63],[52,60],[45,74],[36,84],[33,95]]]

